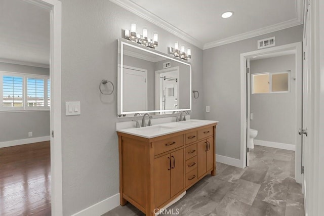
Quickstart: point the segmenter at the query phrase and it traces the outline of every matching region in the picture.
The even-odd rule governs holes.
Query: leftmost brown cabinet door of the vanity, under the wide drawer
[[[171,188],[170,154],[154,159],[154,203],[155,207],[170,199]]]

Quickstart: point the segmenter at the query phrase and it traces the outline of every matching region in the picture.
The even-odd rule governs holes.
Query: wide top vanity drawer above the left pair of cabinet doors
[[[152,143],[154,146],[154,155],[158,155],[172,149],[183,146],[183,135],[176,137],[170,137],[164,140],[156,141]]]

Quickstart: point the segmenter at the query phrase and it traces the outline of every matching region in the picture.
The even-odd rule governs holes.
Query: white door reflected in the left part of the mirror
[[[123,105],[124,111],[147,110],[147,70],[124,66]]]

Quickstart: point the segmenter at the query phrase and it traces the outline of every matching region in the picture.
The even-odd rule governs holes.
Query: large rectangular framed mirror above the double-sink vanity
[[[118,39],[118,117],[191,110],[191,64]]]

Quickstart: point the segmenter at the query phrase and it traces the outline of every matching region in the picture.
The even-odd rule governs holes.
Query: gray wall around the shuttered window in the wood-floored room
[[[0,71],[50,75],[50,69],[0,62]],[[50,112],[0,112],[0,142],[50,136]]]

